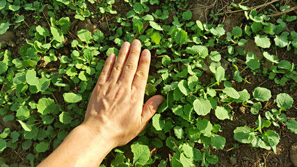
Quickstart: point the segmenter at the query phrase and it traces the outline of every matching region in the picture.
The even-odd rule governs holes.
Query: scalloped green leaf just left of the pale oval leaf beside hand
[[[47,113],[51,113],[51,111],[56,109],[56,104],[51,98],[41,98],[40,100],[38,100],[36,108],[38,109],[38,113],[44,115]]]

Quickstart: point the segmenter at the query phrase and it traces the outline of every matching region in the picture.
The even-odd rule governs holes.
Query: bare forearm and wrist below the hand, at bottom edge
[[[105,141],[101,136],[94,135],[86,127],[79,125],[38,167],[97,167],[112,149],[112,141]]]

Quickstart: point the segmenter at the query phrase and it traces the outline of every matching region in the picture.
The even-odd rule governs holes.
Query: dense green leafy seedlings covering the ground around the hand
[[[165,100],[145,130],[101,166],[241,166],[233,151],[243,148],[263,157],[242,165],[266,166],[269,154],[289,163],[290,145],[284,153],[279,143],[297,141],[297,33],[289,29],[296,28],[296,1],[220,8],[213,1],[215,10],[200,13],[207,19],[196,19],[197,3],[0,0],[1,167],[47,157],[83,121],[106,55],[135,38],[152,52],[145,99]],[[233,13],[243,22],[226,29]],[[103,26],[93,29],[90,20]],[[74,30],[77,22],[83,28]],[[5,38],[12,31],[27,34],[17,49]]]

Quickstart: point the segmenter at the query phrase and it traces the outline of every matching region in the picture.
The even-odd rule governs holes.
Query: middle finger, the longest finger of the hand
[[[122,70],[120,81],[131,84],[137,69],[139,55],[141,54],[141,42],[134,40],[129,51],[129,56]]]

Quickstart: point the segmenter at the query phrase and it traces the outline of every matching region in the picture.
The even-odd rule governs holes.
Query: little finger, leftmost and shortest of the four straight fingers
[[[98,79],[98,84],[104,84],[111,75],[111,70],[113,69],[113,64],[115,63],[115,54],[109,54],[109,57],[106,59],[100,77]]]

